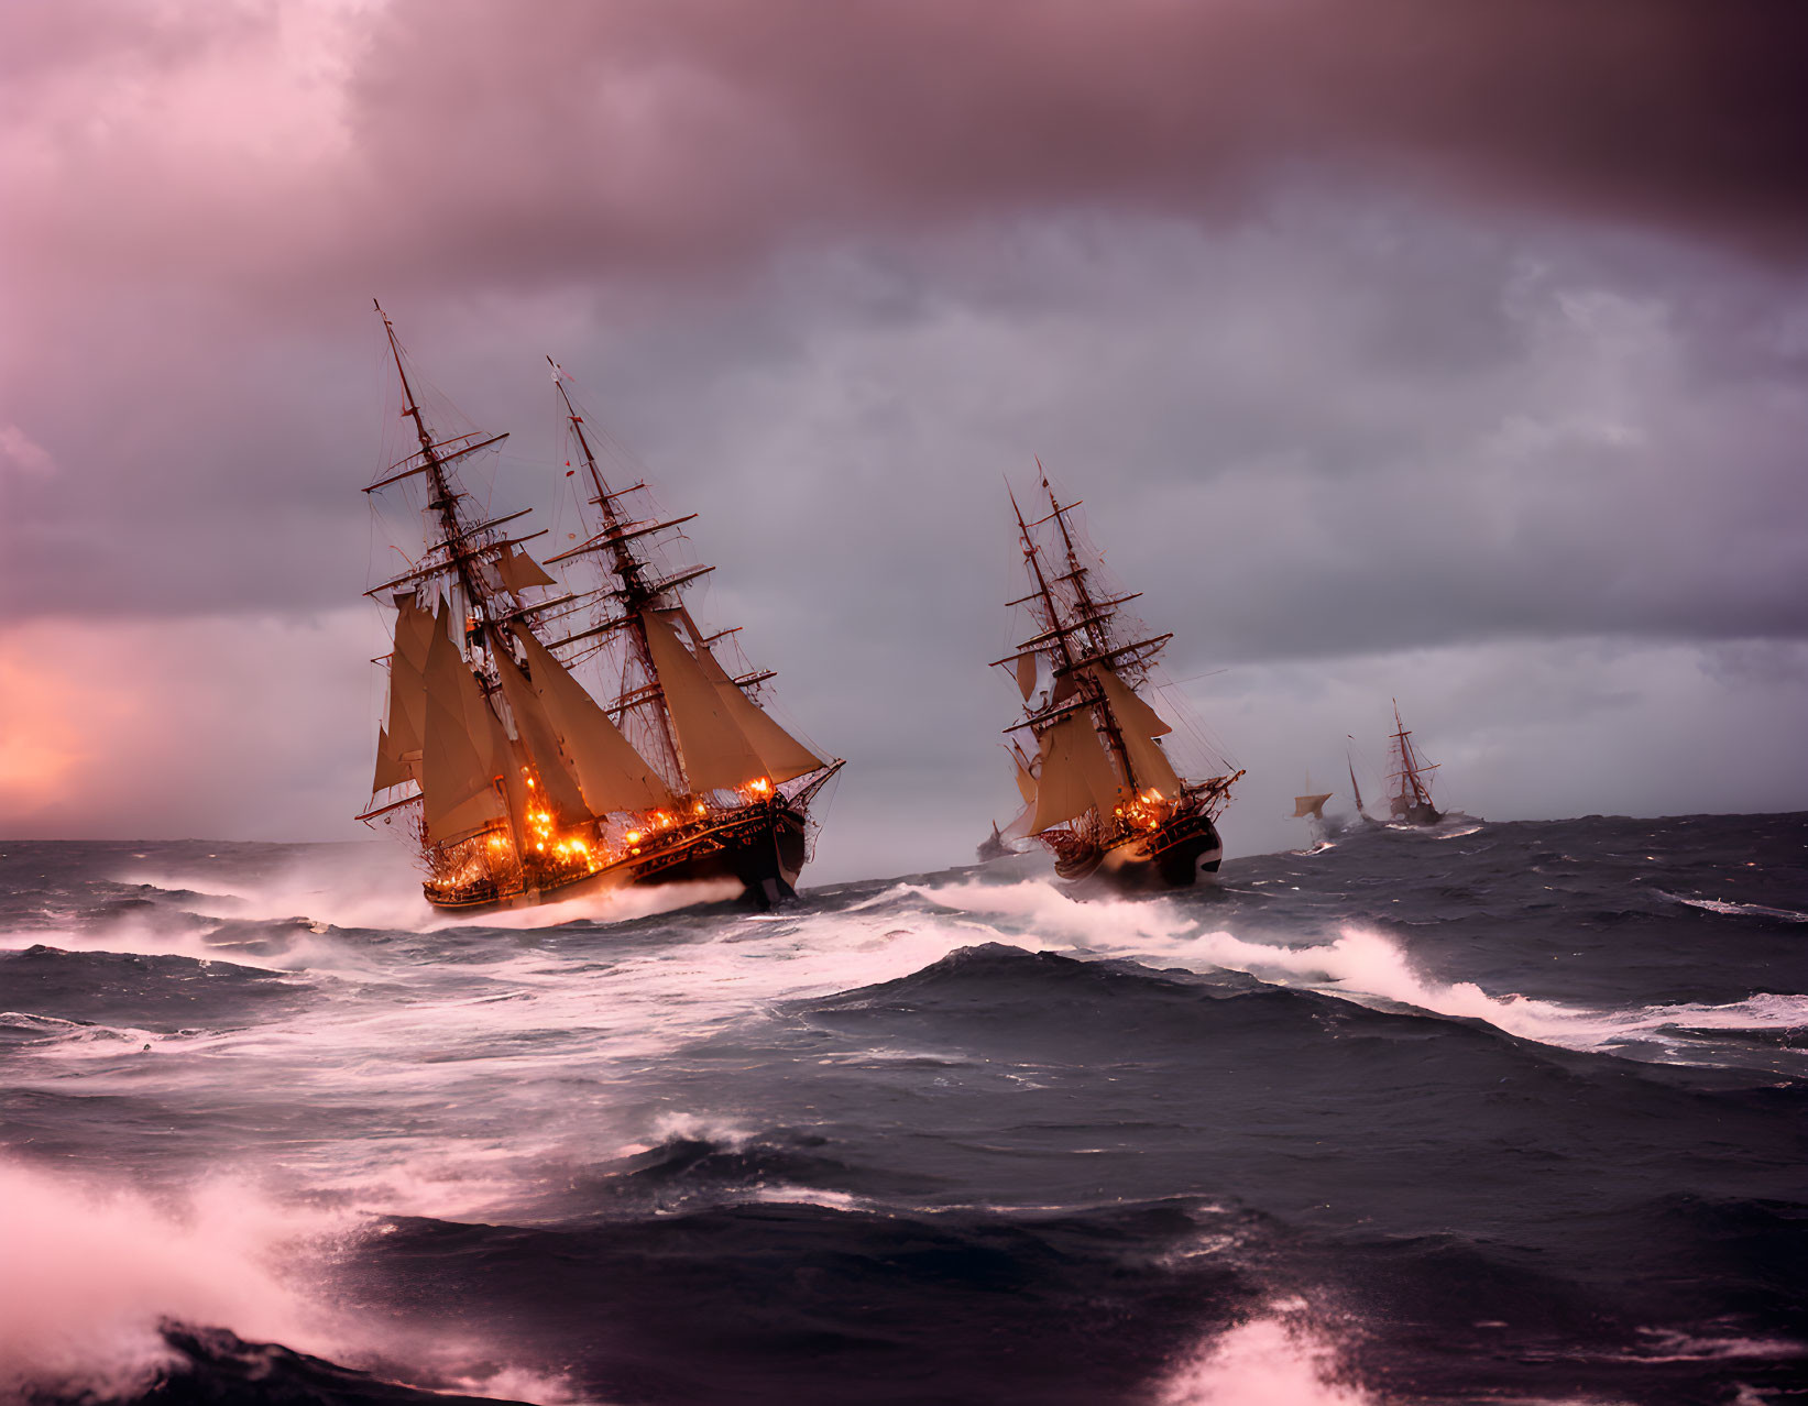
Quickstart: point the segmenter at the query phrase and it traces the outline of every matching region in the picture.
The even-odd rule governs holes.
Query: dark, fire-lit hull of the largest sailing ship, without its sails
[[[736,815],[707,830],[678,831],[649,839],[638,855],[624,855],[613,864],[573,875],[557,884],[515,893],[472,893],[457,896],[423,887],[427,902],[443,913],[492,913],[533,907],[568,898],[656,884],[705,884],[739,880],[756,904],[788,898],[808,858],[805,811],[792,806],[761,806],[756,813]]]

